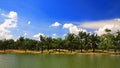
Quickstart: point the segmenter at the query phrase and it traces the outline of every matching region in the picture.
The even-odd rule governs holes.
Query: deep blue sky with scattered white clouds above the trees
[[[120,30],[120,0],[0,0],[0,39]]]

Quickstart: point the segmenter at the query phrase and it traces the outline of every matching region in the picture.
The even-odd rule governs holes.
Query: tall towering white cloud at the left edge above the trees
[[[17,12],[10,11],[9,14],[1,13],[5,17],[4,22],[0,24],[0,39],[11,39],[13,35],[11,30],[17,27]]]

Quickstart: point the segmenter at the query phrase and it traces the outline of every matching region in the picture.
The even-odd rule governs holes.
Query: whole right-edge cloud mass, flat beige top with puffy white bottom
[[[94,22],[84,22],[79,27],[86,29],[94,29],[98,35],[106,34],[105,29],[110,29],[110,33],[116,33],[120,31],[120,18],[111,20],[101,20]]]

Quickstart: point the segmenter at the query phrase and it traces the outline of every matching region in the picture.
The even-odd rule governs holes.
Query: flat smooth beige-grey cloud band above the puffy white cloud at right
[[[111,19],[111,20],[100,20],[100,21],[93,21],[93,22],[83,22],[79,27],[87,28],[87,29],[99,29],[105,25],[120,25],[120,19]]]

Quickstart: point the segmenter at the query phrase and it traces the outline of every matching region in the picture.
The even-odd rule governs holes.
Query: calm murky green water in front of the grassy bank
[[[0,68],[120,68],[120,55],[0,54]]]

